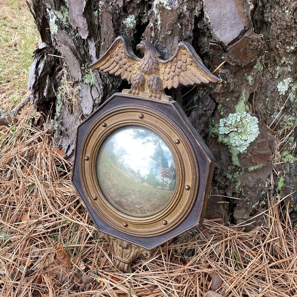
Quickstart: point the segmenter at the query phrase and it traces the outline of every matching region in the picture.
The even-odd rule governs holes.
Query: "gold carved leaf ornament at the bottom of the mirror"
[[[114,254],[114,266],[124,273],[131,273],[131,263],[140,257],[150,257],[151,252],[143,247],[137,247],[118,238],[101,233],[100,239],[107,241]]]

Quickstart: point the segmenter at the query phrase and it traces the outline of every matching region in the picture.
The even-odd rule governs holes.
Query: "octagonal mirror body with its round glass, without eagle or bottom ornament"
[[[72,179],[101,232],[150,250],[203,218],[213,157],[188,121],[116,93],[80,125]]]

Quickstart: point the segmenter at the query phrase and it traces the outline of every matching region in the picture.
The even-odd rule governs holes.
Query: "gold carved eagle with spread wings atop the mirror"
[[[164,93],[165,88],[222,81],[207,70],[195,49],[187,42],[180,42],[175,54],[168,60],[163,60],[148,41],[141,41],[136,49],[143,52],[143,58],[134,54],[126,36],[119,36],[90,67],[127,80],[131,83],[128,92],[132,95],[156,99],[168,100]]]

